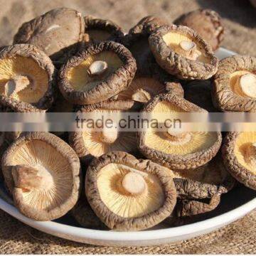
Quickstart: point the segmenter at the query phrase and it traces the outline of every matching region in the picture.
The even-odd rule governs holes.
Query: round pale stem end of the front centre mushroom
[[[129,171],[122,179],[122,187],[132,195],[139,195],[146,190],[146,181],[142,175]]]

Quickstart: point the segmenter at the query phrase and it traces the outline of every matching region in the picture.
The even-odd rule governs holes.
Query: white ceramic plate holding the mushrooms
[[[217,52],[218,58],[225,58],[233,54],[230,50],[223,48],[220,48]],[[234,188],[222,196],[220,206],[213,210],[211,218],[207,220],[176,228],[163,228],[159,225],[154,230],[139,232],[116,232],[80,228],[69,215],[56,221],[35,221],[26,218],[14,206],[6,203],[1,198],[0,208],[33,228],[76,242],[117,246],[159,245],[194,238],[238,220],[238,218],[256,208],[256,191],[252,191],[244,186]]]

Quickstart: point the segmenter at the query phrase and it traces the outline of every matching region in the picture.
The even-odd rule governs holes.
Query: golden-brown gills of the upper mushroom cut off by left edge
[[[33,88],[26,87],[18,92],[14,99],[36,103],[48,90],[48,74],[32,58],[16,56],[15,58],[6,58],[0,60],[0,94],[4,95],[6,82],[16,75],[28,76],[33,80]]]

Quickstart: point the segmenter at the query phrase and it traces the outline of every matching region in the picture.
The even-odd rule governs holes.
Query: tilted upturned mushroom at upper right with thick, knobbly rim
[[[161,68],[178,78],[206,80],[217,72],[218,58],[191,28],[161,26],[149,36],[149,47]]]

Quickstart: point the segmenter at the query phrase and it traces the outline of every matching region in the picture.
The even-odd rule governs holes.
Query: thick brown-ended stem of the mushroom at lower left
[[[52,185],[52,177],[47,171],[32,166],[18,165],[11,170],[14,177],[14,184],[16,188],[22,188],[23,191],[31,191],[37,189],[47,189]]]

